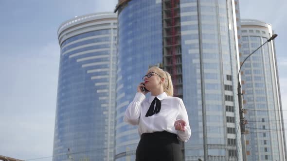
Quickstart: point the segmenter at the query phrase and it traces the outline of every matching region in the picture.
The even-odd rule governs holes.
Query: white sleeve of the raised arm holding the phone
[[[134,97],[133,101],[127,106],[124,121],[131,125],[138,125],[141,115],[141,103],[145,96],[138,92]]]

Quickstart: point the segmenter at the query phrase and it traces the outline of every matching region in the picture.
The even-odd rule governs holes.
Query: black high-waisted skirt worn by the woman
[[[136,161],[182,161],[181,145],[177,135],[167,131],[143,133]]]

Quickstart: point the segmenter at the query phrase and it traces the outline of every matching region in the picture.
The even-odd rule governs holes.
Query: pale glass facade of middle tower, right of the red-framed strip
[[[204,151],[209,161],[241,158],[233,5],[180,0],[183,101],[193,131],[186,161],[204,159]]]

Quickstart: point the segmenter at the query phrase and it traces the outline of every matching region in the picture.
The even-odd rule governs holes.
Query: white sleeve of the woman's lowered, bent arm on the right
[[[186,122],[186,127],[185,131],[178,131],[178,137],[180,141],[187,142],[191,136],[191,129],[188,122],[188,115],[182,99],[179,100],[179,115],[177,116],[177,120],[180,119]]]

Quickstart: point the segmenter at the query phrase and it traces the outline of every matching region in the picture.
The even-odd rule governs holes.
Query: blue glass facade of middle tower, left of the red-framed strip
[[[116,161],[134,161],[140,136],[123,121],[150,65],[162,63],[161,0],[131,0],[119,9]]]

